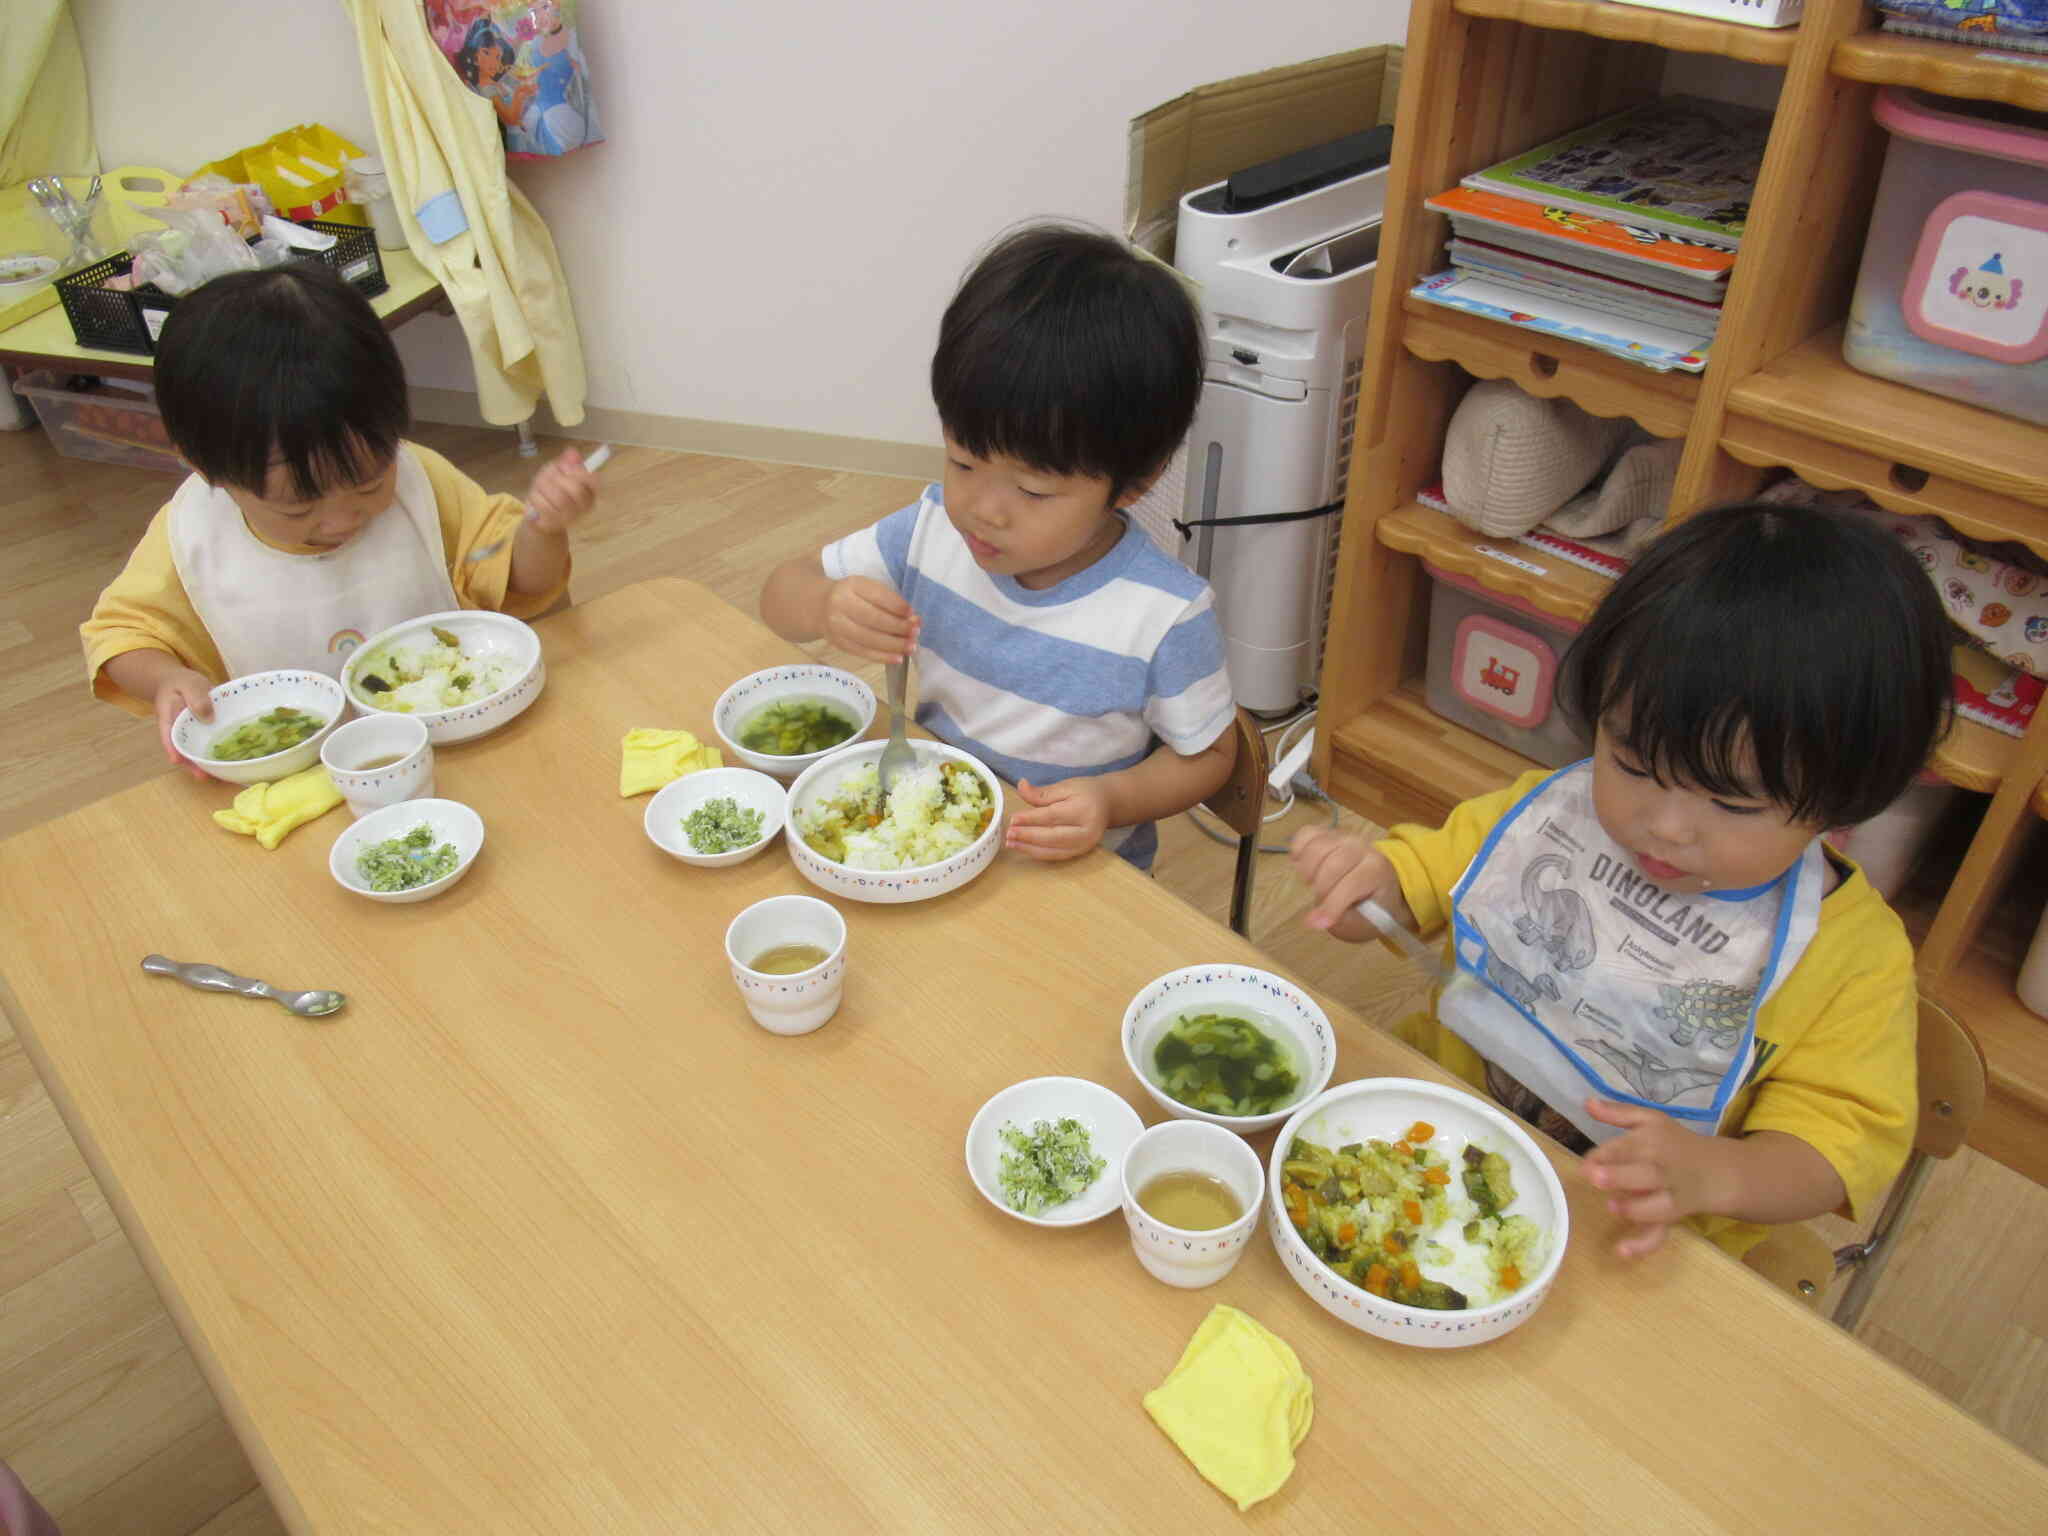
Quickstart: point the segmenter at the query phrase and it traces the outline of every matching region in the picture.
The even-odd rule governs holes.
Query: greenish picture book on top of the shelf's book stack
[[[1755,106],[1665,96],[1473,172],[1464,184],[1735,250],[1769,129],[1772,115]]]

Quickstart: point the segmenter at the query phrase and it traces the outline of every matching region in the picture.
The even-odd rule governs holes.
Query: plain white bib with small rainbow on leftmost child
[[[272,549],[225,489],[188,475],[170,498],[170,557],[229,678],[274,668],[338,678],[365,637],[461,606],[434,487],[403,444],[393,504],[340,549]]]

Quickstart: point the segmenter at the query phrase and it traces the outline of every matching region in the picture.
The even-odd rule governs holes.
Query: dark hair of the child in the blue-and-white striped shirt
[[[1202,319],[1180,279],[1094,229],[1004,236],[946,305],[938,420],[977,459],[1104,475],[1159,471],[1202,393]]]

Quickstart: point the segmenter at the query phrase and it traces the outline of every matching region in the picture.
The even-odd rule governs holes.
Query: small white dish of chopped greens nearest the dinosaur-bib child
[[[1079,1227],[1122,1206],[1122,1165],[1145,1124],[1118,1094],[1085,1077],[1030,1077],[1006,1087],[967,1128],[967,1171],[1006,1217]]]

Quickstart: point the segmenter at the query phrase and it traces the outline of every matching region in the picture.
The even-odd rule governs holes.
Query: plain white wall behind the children
[[[104,164],[195,166],[299,121],[371,143],[338,0],[72,0]],[[608,143],[520,164],[590,403],[936,442],[940,309],[1004,225],[1116,227],[1124,127],[1188,86],[1401,41],[1405,0],[584,0]],[[469,389],[453,322],[401,336]]]

